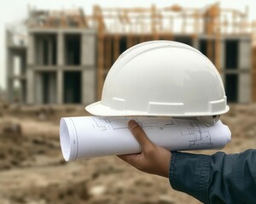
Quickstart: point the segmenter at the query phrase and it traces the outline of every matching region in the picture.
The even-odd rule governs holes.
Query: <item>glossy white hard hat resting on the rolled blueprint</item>
[[[102,100],[85,109],[98,116],[216,116],[229,106],[221,77],[205,55],[181,42],[150,41],[119,56]]]

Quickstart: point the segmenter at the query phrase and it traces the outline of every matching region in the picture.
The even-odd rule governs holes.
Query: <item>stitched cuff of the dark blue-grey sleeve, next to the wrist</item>
[[[174,190],[208,202],[211,156],[172,152],[169,180]]]

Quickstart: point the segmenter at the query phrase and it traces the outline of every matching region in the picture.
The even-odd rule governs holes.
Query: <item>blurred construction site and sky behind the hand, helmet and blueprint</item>
[[[9,0],[0,11],[0,203],[200,203],[116,156],[61,156],[61,116],[87,115],[113,62],[139,42],[184,42],[207,55],[230,105],[224,151],[256,147],[253,0]]]

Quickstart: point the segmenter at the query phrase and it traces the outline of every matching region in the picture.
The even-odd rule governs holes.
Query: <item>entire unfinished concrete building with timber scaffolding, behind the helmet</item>
[[[218,4],[206,8],[95,6],[90,16],[81,9],[32,11],[27,46],[8,45],[9,101],[14,101],[11,93],[18,80],[21,102],[89,104],[101,98],[104,79],[126,48],[165,39],[187,43],[206,54],[223,77],[229,102],[256,102],[255,27],[247,20],[247,10]],[[14,56],[21,59],[18,76],[13,72]]]

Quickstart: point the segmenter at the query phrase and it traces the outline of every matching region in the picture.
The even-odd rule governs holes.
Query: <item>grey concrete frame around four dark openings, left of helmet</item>
[[[43,59],[35,60],[35,52],[40,56],[42,52],[42,42],[38,37],[54,34],[56,36],[56,65],[42,65]],[[65,35],[76,34],[81,36],[81,63],[80,65],[65,65]],[[81,29],[31,29],[28,35],[27,48],[27,103],[42,104],[43,98],[43,71],[52,71],[54,74],[49,77],[49,103],[63,104],[64,71],[81,71],[81,103],[84,105],[96,100],[96,31]],[[50,46],[49,46],[50,47]],[[49,50],[49,53],[51,51]],[[41,54],[42,55],[42,54]],[[51,59],[49,59],[51,61]],[[75,90],[74,90],[75,91]]]

